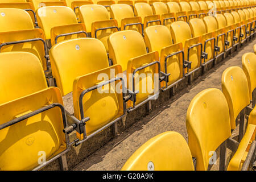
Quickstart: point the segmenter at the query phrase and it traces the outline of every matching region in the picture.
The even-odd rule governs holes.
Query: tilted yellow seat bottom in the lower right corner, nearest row
[[[251,115],[251,114],[250,114]],[[255,122],[256,123],[256,122]],[[243,163],[245,162],[246,156],[250,149],[251,143],[255,140],[256,125],[248,125],[245,135],[243,136],[236,153],[230,160],[228,165],[228,171],[240,171]]]

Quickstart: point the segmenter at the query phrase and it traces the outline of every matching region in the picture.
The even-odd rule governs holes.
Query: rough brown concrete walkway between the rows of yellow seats
[[[164,131],[177,131],[188,140],[185,117],[192,98],[207,88],[221,89],[222,72],[231,66],[242,67],[241,57],[243,53],[253,52],[254,44],[256,44],[255,39],[243,45],[239,51],[226,57],[224,61],[197,78],[192,85],[176,93],[174,97],[166,99],[162,105],[88,156],[73,170],[120,170],[127,159],[143,143]],[[236,133],[237,130],[233,131],[234,135]],[[230,153],[228,151],[229,157]],[[213,165],[211,168],[211,170],[217,169],[218,165]]]

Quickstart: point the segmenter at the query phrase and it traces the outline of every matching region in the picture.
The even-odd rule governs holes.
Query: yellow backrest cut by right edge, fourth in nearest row
[[[242,56],[243,72],[247,77],[250,100],[252,100],[253,90],[256,88],[256,55],[253,52],[247,52]]]

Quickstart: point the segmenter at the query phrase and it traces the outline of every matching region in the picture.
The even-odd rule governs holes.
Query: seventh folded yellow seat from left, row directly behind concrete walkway
[[[226,34],[224,28],[218,29],[218,23],[214,16],[205,16],[203,18],[207,32],[215,32],[216,34],[216,59],[220,56],[223,56],[225,53],[226,47]]]

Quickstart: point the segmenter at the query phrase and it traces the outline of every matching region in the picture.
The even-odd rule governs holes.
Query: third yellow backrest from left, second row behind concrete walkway
[[[79,14],[88,32],[92,31],[93,22],[109,19],[108,10],[102,5],[82,5],[79,7]]]

